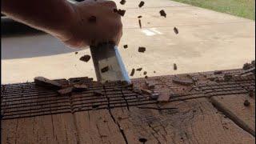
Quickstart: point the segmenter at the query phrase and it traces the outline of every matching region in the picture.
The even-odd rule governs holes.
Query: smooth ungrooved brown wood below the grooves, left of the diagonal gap
[[[152,109],[156,107],[162,110]],[[218,112],[206,98],[2,121],[2,143],[142,143],[142,140],[146,143],[255,141],[254,136]]]

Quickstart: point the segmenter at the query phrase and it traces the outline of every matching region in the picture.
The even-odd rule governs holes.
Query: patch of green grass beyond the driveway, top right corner
[[[255,20],[255,0],[173,0]]]

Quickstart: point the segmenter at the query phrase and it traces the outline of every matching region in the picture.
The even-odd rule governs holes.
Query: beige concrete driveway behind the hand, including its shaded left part
[[[133,78],[241,68],[255,59],[255,22],[170,0],[147,0],[138,8],[138,0],[127,0],[123,37],[119,44],[126,70],[142,67]],[[165,10],[167,17],[160,17]],[[142,29],[138,26],[142,15]],[[174,26],[179,33],[174,34]],[[123,45],[128,45],[123,49]],[[145,46],[144,54],[138,46]],[[93,62],[81,62],[83,54],[74,54],[48,34],[2,38],[2,83],[46,78],[96,78]],[[177,63],[178,70],[173,70]],[[155,71],[155,73],[154,73]]]

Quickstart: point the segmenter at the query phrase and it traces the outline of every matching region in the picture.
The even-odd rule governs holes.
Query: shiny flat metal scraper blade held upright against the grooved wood
[[[98,82],[126,81],[130,78],[118,52],[118,47],[110,43],[90,47]]]

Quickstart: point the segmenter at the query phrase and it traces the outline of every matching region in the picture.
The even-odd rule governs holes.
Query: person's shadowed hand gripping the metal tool
[[[70,47],[82,48],[101,42],[114,42],[118,45],[122,37],[121,16],[114,13],[116,4],[106,0],[78,2],[73,6],[74,13],[69,27],[55,35]]]

